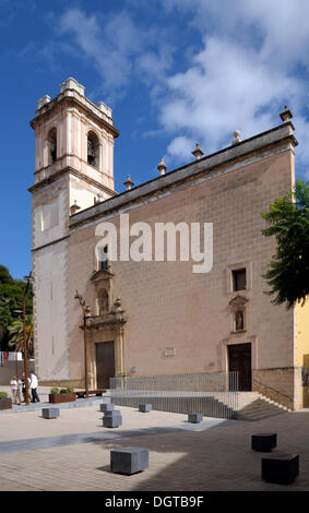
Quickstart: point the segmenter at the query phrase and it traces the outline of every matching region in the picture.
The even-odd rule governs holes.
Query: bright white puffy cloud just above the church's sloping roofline
[[[207,151],[233,138],[266,130],[284,103],[297,104],[301,87],[296,79],[263,63],[258,52],[215,37],[205,41],[193,65],[167,81],[173,99],[161,111],[169,132],[185,130],[202,138]]]

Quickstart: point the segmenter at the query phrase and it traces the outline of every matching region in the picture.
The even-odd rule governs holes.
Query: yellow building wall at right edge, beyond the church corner
[[[309,299],[304,306],[296,306],[296,351],[295,366],[309,369]],[[309,386],[302,386],[302,405],[309,406]]]

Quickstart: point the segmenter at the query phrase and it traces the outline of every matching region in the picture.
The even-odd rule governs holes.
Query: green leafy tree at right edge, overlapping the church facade
[[[269,212],[262,212],[268,227],[262,231],[275,237],[277,247],[264,275],[275,305],[304,303],[309,294],[309,183],[297,180],[295,189],[276,199]]]

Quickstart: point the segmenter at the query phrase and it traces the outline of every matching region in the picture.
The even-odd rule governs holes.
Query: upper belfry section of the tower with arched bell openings
[[[35,184],[41,190],[70,176],[70,206],[87,208],[99,196],[115,195],[114,141],[119,135],[112,112],[103,102],[93,104],[74,79],[60,85],[60,94],[45,95],[31,121],[35,131]],[[81,187],[81,183],[82,187]]]

